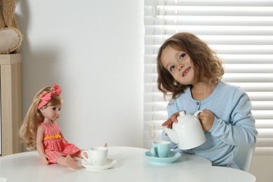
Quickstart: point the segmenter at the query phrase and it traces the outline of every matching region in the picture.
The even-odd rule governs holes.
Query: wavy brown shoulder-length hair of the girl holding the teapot
[[[158,50],[158,89],[165,96],[170,94],[172,95],[172,99],[175,99],[190,86],[178,83],[174,80],[171,73],[163,67],[160,57],[162,51],[168,46],[186,52],[189,55],[193,69],[195,70],[195,79],[197,82],[218,83],[225,73],[221,59],[209,48],[207,43],[195,36],[195,34],[188,32],[174,34]]]

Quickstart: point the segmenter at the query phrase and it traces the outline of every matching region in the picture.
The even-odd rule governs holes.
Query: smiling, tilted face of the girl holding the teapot
[[[174,80],[183,85],[193,84],[195,71],[190,56],[186,52],[167,46],[162,50],[160,60],[163,67],[172,74]]]

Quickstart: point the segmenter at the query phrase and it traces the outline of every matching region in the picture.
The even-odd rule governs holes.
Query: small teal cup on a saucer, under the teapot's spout
[[[153,141],[151,155],[158,158],[168,158],[171,151],[170,141]]]

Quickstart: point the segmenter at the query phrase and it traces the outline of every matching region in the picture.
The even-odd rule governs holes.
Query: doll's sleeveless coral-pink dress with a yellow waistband
[[[80,151],[80,148],[73,144],[67,143],[62,137],[60,137],[59,125],[52,123],[41,123],[45,128],[43,134],[43,148],[45,155],[48,155],[48,162],[56,163],[59,156],[73,155]]]

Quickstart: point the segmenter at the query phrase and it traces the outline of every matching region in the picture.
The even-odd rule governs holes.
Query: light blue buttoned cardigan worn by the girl
[[[233,162],[237,146],[254,146],[258,134],[248,95],[240,87],[220,82],[214,92],[202,101],[193,99],[188,87],[167,106],[169,117],[182,110],[193,114],[204,109],[215,115],[214,125],[209,132],[205,132],[207,141],[183,152],[207,158],[212,165],[238,168]],[[162,139],[169,140],[164,131]],[[173,144],[173,148],[180,151],[176,144]]]

